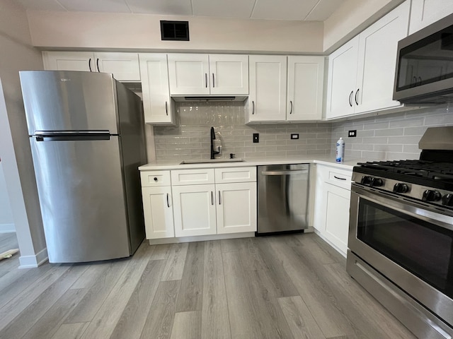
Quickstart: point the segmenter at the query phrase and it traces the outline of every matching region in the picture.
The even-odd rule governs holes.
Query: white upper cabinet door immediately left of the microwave
[[[398,41],[407,36],[410,1],[406,1],[359,35],[355,113],[401,106],[392,100]]]

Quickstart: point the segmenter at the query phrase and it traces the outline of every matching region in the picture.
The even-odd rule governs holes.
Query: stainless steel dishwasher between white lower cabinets
[[[258,166],[256,235],[303,232],[308,227],[309,165]]]

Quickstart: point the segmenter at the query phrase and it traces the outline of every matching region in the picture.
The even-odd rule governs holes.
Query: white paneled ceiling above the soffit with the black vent
[[[326,20],[345,0],[16,0],[31,11]]]

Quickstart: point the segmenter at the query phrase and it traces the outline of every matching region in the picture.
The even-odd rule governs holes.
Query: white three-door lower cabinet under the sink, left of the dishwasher
[[[142,171],[147,239],[256,231],[256,167]]]

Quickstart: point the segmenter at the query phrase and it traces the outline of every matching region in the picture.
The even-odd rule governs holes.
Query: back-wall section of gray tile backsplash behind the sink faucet
[[[246,125],[244,102],[176,102],[176,126],[154,126],[156,160],[209,159],[210,129],[214,146],[222,147],[217,157],[290,157],[331,153],[331,124]],[[259,143],[253,143],[259,133]],[[292,140],[291,133],[299,133]]]

